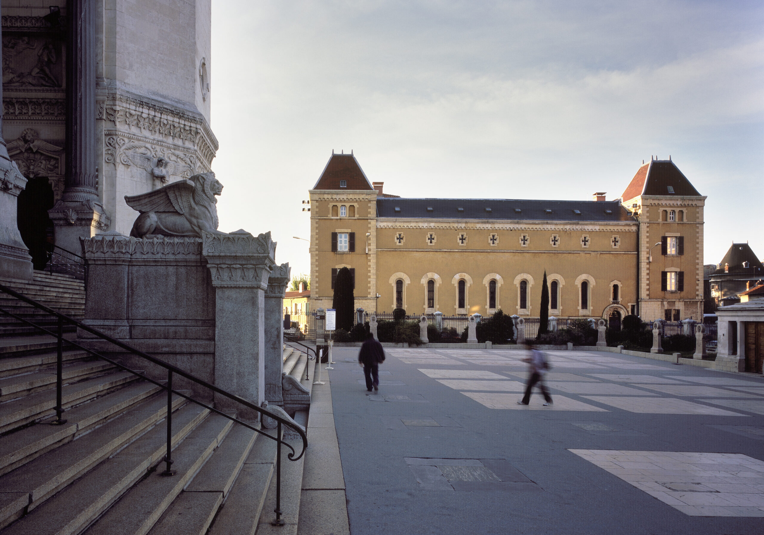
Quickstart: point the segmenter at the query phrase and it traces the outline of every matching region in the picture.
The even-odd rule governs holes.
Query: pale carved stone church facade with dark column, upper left
[[[3,0],[3,128],[21,237],[129,234],[125,195],[210,170],[210,0]]]

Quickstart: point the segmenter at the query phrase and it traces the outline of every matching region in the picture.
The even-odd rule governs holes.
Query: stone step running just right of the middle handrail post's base
[[[86,535],[145,535],[183,487],[202,468],[219,444],[223,443],[233,422],[212,414],[173,451],[175,475],[161,475],[163,463],[138,485],[131,488],[112,508],[84,533]]]

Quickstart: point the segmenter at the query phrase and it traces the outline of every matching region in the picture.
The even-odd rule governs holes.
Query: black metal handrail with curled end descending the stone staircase
[[[176,366],[173,366],[170,363],[166,363],[161,359],[157,359],[154,356],[148,355],[147,353],[144,353],[141,350],[137,350],[132,346],[128,346],[128,344],[120,342],[119,340],[116,340],[115,338],[112,338],[108,336],[108,334],[102,333],[101,331],[94,329],[92,327],[89,327],[86,324],[83,324],[79,321],[76,321],[73,317],[69,317],[66,314],[61,314],[60,312],[54,311],[52,308],[48,308],[45,305],[42,305],[38,303],[37,301],[34,301],[34,299],[28,298],[25,295],[22,295],[18,292],[15,292],[15,290],[8,288],[8,286],[0,285],[0,292],[5,292],[8,295],[12,295],[13,297],[24,301],[28,303],[28,305],[32,305],[34,308],[37,308],[41,311],[47,312],[47,314],[50,314],[52,316],[57,317],[57,330],[56,332],[52,332],[50,330],[47,330],[44,327],[40,327],[37,324],[32,323],[31,321],[28,321],[26,318],[19,316],[18,314],[14,314],[11,311],[5,310],[5,308],[0,308],[0,312],[3,314],[6,314],[10,317],[14,317],[16,320],[23,322],[24,324],[31,325],[31,327],[34,327],[37,330],[42,331],[44,334],[49,334],[52,337],[56,337],[57,339],[57,363],[56,363],[56,420],[53,421],[53,424],[65,424],[66,420],[62,418],[64,408],[62,406],[62,390],[63,390],[63,324],[66,321],[69,324],[72,324],[76,327],[79,327],[80,329],[86,330],[90,334],[95,335],[95,337],[98,337],[102,340],[105,340],[109,343],[114,344],[115,346],[120,347],[121,349],[127,351],[128,353],[132,353],[133,355],[140,356],[143,359],[148,360],[151,363],[156,364],[157,366],[161,366],[164,369],[167,369],[167,385],[163,385],[162,382],[156,381],[154,379],[151,379],[150,377],[147,377],[147,375],[144,375],[141,372],[135,371],[133,369],[129,369],[127,366],[119,363],[118,361],[112,360],[108,358],[107,356],[102,355],[101,353],[98,353],[97,351],[90,350],[86,347],[83,347],[79,345],[79,343],[73,342],[72,340],[66,340],[67,346],[73,346],[76,349],[86,351],[87,353],[91,354],[92,356],[98,357],[99,359],[103,359],[107,361],[108,363],[112,363],[114,366],[117,366],[119,369],[124,370],[125,372],[129,372],[133,375],[136,375],[140,377],[141,379],[144,379],[148,382],[153,383],[154,385],[159,386],[160,388],[163,388],[167,391],[167,453],[164,456],[164,459],[161,462],[166,463],[166,467],[164,472],[162,472],[162,475],[174,475],[175,472],[170,469],[170,466],[173,464],[172,460],[172,400],[173,400],[173,394],[179,395],[182,398],[187,399],[188,401],[191,401],[192,403],[198,404],[199,406],[208,409],[209,411],[214,412],[215,414],[220,414],[223,417],[228,418],[228,420],[234,421],[237,424],[241,424],[244,427],[247,427],[248,429],[251,429],[257,433],[260,433],[264,437],[268,437],[271,440],[275,440],[277,443],[277,454],[276,454],[276,508],[274,509],[274,513],[276,513],[276,519],[271,522],[271,524],[274,525],[283,525],[284,520],[281,518],[281,446],[284,445],[287,448],[291,450],[291,453],[287,454],[287,458],[296,461],[299,460],[304,454],[305,450],[308,447],[308,437],[301,428],[296,427],[292,424],[292,422],[286,420],[283,417],[278,416],[277,414],[274,414],[267,409],[258,407],[257,404],[251,403],[244,398],[239,397],[238,395],[231,394],[230,392],[226,392],[222,388],[219,388],[215,385],[210,384],[209,382],[206,382],[203,379],[199,379],[195,375],[190,374],[189,372],[185,372],[180,368],[177,368]],[[219,395],[224,396],[225,398],[231,399],[232,401],[236,401],[239,404],[244,405],[244,407],[250,408],[254,411],[259,412],[260,414],[263,414],[264,416],[273,418],[275,421],[277,421],[277,432],[276,436],[270,435],[269,433],[266,433],[260,429],[257,429],[257,427],[251,426],[250,424],[247,424],[246,422],[243,422],[239,420],[237,417],[233,417],[230,414],[225,414],[225,412],[219,411],[216,408],[210,407],[209,405],[202,403],[202,401],[198,401],[194,398],[191,398],[188,395],[183,394],[183,392],[177,391],[173,389],[173,375],[177,374],[181,377],[184,377],[188,379],[191,382],[196,383],[197,385],[203,386],[205,388],[208,388],[209,390],[212,390],[212,392],[215,392]],[[287,427],[292,428],[295,430],[299,437],[303,440],[303,450],[299,453],[299,455],[296,455],[296,452],[293,448],[293,446],[290,443],[285,442],[282,440],[283,433],[282,433],[282,424],[286,425]]]

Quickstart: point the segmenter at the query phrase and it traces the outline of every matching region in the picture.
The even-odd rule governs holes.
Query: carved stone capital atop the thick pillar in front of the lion
[[[202,256],[215,288],[267,289],[275,254],[276,242],[270,232],[257,237],[245,230],[202,233]]]

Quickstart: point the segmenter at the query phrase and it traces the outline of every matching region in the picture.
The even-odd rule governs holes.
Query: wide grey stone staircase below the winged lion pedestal
[[[0,283],[82,317],[82,283],[62,279],[35,272],[31,283]],[[6,297],[0,292],[2,308],[36,317]],[[51,424],[56,417],[56,340],[0,319],[6,329],[0,337],[0,535],[251,534],[270,520],[271,511],[262,519],[261,512],[269,487],[273,491],[273,440],[175,395],[175,474],[163,476],[166,392],[65,346],[66,423]],[[299,381],[308,359],[291,350],[283,358],[286,375],[309,399],[309,382]],[[296,420],[306,424],[307,412],[298,412]],[[282,463],[282,470],[296,464],[286,460],[284,450]],[[296,475],[295,468],[286,473]],[[298,509],[299,481],[286,485],[296,486],[298,497],[290,503]]]

